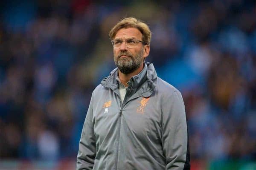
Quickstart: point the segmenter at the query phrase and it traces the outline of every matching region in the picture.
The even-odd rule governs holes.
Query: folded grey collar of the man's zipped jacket
[[[118,68],[115,68],[108,77],[105,77],[101,84],[106,88],[111,88],[113,91],[118,89],[118,81],[116,77],[118,76]],[[132,83],[131,91],[133,94],[139,92],[143,97],[149,97],[156,87],[157,73],[154,66],[150,62],[144,62],[143,70],[136,76],[131,77],[130,83]],[[129,84],[130,84],[129,83]]]

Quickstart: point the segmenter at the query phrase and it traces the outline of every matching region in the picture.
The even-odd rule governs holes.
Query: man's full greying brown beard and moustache
[[[121,56],[128,57],[120,58]],[[121,73],[130,74],[143,62],[143,48],[134,56],[129,51],[120,51],[117,56],[114,55],[114,62]]]

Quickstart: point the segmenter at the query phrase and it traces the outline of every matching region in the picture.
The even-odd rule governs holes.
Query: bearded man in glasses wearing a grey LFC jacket
[[[150,29],[130,17],[109,35],[117,68],[93,91],[77,170],[189,170],[182,96],[144,62]]]

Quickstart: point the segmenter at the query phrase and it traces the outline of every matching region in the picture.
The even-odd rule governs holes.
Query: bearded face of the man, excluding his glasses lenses
[[[142,34],[137,28],[122,28],[117,31],[114,40],[121,39],[124,42],[118,48],[114,47],[114,62],[123,74],[129,74],[143,65],[143,44],[138,43],[133,48],[128,48],[125,40],[134,39],[142,41]]]

